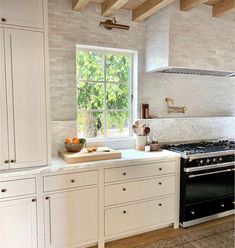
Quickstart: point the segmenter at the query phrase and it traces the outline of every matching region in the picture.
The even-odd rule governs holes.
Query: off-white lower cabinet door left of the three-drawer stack
[[[98,240],[98,188],[50,194],[44,204],[46,248]]]

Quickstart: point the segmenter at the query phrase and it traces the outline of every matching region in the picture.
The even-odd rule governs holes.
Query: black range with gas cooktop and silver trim
[[[181,154],[180,225],[234,213],[235,142],[163,145]]]

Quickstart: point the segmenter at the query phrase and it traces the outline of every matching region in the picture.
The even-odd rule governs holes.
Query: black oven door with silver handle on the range
[[[187,173],[185,203],[210,201],[228,195],[231,173],[231,168]]]

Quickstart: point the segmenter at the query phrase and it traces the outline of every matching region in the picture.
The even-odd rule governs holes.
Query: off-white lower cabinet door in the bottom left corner
[[[0,247],[37,248],[36,198],[0,201]]]

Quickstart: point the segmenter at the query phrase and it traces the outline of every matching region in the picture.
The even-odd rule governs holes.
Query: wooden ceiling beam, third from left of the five
[[[146,0],[141,5],[133,9],[132,20],[138,22],[143,21],[173,1],[174,0]]]

